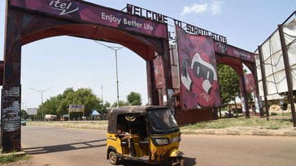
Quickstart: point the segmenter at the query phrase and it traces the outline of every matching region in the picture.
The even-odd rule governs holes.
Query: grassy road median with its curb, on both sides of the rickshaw
[[[27,125],[107,130],[108,121],[27,122]],[[291,122],[278,120],[267,122],[260,118],[253,120],[240,118],[198,122],[196,124],[181,126],[181,131],[186,135],[296,137],[296,128],[293,128]]]

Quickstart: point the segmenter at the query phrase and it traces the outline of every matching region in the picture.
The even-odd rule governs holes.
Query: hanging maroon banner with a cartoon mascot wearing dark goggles
[[[213,39],[177,32],[183,109],[221,106]]]

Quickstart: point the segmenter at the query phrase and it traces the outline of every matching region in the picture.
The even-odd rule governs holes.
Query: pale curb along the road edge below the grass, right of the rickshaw
[[[254,135],[254,136],[275,136],[275,137],[296,137],[294,131],[276,130],[181,130],[186,135]]]

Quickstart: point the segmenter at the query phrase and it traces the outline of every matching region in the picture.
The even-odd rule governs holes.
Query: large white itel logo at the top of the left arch
[[[49,6],[55,10],[60,10],[60,15],[69,14],[79,10],[79,7],[71,8],[72,3],[69,0],[67,1],[68,2],[60,2],[60,0],[53,0],[51,3],[49,3]]]

